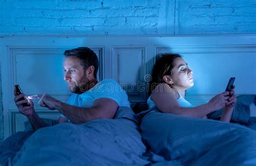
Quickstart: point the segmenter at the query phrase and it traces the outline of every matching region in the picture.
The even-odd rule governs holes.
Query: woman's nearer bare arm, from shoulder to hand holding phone
[[[208,113],[223,108],[228,97],[224,92],[214,96],[208,103],[198,107],[180,107],[177,101],[177,92],[167,84],[159,84],[151,95],[151,100],[156,103],[157,108],[163,113],[172,113],[183,116],[203,117]]]

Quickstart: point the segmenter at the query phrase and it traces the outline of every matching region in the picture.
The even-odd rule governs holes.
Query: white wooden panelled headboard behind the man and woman
[[[120,83],[132,102],[147,99],[147,79],[156,54],[180,53],[193,70],[195,85],[187,91],[193,105],[223,92],[236,77],[237,94],[256,94],[256,34],[211,36],[85,36],[1,37],[4,139],[24,129],[13,89],[19,84],[26,95],[47,93],[66,101],[71,94],[63,80],[63,53],[90,47],[99,57],[98,79]],[[125,84],[124,84],[125,83]],[[41,117],[58,119],[57,111],[35,108]]]

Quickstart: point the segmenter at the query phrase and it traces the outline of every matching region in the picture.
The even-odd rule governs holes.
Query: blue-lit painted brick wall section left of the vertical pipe
[[[0,34],[157,34],[174,1],[1,1]],[[159,19],[159,17],[163,19]]]

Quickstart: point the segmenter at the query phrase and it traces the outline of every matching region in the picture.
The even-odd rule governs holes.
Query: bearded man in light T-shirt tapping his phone
[[[112,119],[117,112],[118,106],[130,107],[127,94],[116,81],[106,79],[97,81],[98,58],[87,47],[66,50],[64,52],[64,80],[74,93],[67,103],[58,101],[52,96],[34,95],[26,97],[24,94],[16,95],[15,102],[19,112],[28,117],[35,129],[47,126],[36,114],[33,102],[30,99],[40,98],[40,106],[48,109],[57,109],[62,115],[58,123],[72,121],[81,124],[96,119]],[[22,97],[25,100],[19,101]],[[30,106],[23,106],[29,102]]]

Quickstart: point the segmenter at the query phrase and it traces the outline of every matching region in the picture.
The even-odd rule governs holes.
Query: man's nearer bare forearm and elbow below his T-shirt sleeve
[[[96,119],[112,119],[118,104],[112,99],[100,98],[95,100],[90,108],[75,107],[60,101],[55,103],[55,108],[73,123],[82,124]]]

